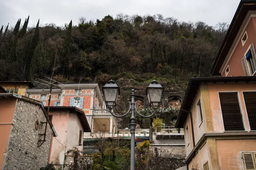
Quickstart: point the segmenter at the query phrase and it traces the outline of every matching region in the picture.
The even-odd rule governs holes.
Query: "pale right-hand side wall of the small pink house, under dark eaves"
[[[66,150],[79,145],[79,130],[82,131],[81,144],[83,144],[84,128],[76,113],[70,113],[67,125]]]

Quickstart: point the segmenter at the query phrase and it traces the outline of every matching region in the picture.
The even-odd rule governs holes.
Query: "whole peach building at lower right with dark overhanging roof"
[[[256,77],[192,78],[176,127],[187,169],[256,170]]]

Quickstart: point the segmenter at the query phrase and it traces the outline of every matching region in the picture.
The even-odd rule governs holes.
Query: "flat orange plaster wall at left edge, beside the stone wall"
[[[4,154],[12,127],[12,119],[17,99],[0,99],[0,168],[3,165]]]

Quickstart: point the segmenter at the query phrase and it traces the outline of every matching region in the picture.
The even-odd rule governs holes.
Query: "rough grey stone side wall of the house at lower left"
[[[35,122],[39,122],[36,130]],[[18,99],[13,126],[6,148],[2,170],[39,170],[48,163],[52,130],[47,127],[46,142],[38,147],[38,140],[43,140],[46,117],[39,105]]]

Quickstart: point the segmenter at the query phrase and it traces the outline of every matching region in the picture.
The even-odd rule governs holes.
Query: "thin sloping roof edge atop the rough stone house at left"
[[[15,93],[0,94],[0,98],[10,98],[10,97],[21,99],[23,101],[34,103],[36,105],[40,105],[41,108],[42,108],[42,111],[44,112],[44,116],[47,118],[47,112],[44,110],[44,105],[42,104],[42,102],[39,102],[38,100],[30,99],[29,97],[22,96],[20,94],[15,94]],[[48,118],[48,123],[49,123],[49,125],[52,129],[53,136],[57,137],[58,135],[57,135],[57,133],[56,133],[56,131],[55,131],[53,125],[52,125],[52,122],[49,120],[49,118]]]

